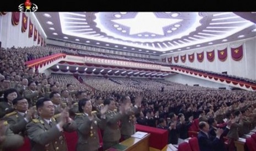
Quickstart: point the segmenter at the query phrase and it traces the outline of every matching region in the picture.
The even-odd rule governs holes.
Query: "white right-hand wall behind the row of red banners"
[[[219,44],[219,45],[211,45],[209,47],[191,49],[186,51],[181,51],[177,53],[162,55],[161,58],[166,58],[166,62],[168,61],[168,57],[172,57],[172,63],[174,65],[184,65],[193,68],[204,69],[206,71],[214,71],[214,72],[227,72],[227,74],[237,75],[239,77],[245,77],[249,79],[256,79],[256,38],[249,38],[238,40],[235,42]],[[243,45],[243,57],[239,61],[235,61],[231,57],[231,48],[237,48]],[[220,61],[218,58],[218,51],[227,48],[227,59],[225,61]],[[214,50],[215,58],[213,61],[209,61],[207,59],[206,52],[210,52]],[[199,62],[197,59],[197,53],[204,53],[203,61]],[[194,61],[190,62],[188,60],[188,55],[194,53]],[[181,56],[186,54],[186,61],[181,61]],[[178,56],[178,62],[174,61],[174,57]]]

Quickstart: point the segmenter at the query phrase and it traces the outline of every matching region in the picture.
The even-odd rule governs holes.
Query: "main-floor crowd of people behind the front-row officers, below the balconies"
[[[102,103],[99,100],[112,98],[118,109],[123,101],[122,96],[129,96],[131,102],[135,103],[136,96],[142,95],[140,112],[136,114],[137,123],[168,130],[170,132],[168,143],[176,144],[178,138],[188,137],[187,131],[194,122],[193,119],[205,122],[199,124],[199,129],[204,131],[207,131],[205,127],[207,128],[208,125],[216,127],[215,120],[216,124],[224,125],[222,129],[231,123],[227,128],[232,133],[225,135],[231,145],[234,140],[242,137],[255,126],[255,92],[194,87],[159,79],[81,76],[84,83],[96,90],[91,91],[73,75],[46,75],[34,71],[33,68],[25,65],[23,53],[9,49],[1,50],[0,54],[1,118],[12,116],[10,113],[17,110],[15,104],[20,101],[16,100],[13,103],[13,100],[19,97],[28,101],[30,109],[41,97],[50,98],[52,102],[58,102],[56,100],[60,98],[58,104],[63,105],[56,104],[56,106],[62,109],[68,106],[70,115],[75,117],[72,113],[78,112],[77,104],[82,98],[91,99],[94,109]],[[165,88],[164,91],[161,91],[162,87]],[[29,114],[28,120],[33,116],[34,113]],[[217,136],[220,135],[219,137],[222,138],[222,133],[223,131],[219,130]]]

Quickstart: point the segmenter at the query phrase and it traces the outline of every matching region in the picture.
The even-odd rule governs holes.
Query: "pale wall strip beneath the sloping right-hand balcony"
[[[210,82],[208,80],[203,80],[195,77],[191,77],[184,74],[173,74],[165,78],[170,82],[180,83],[180,84],[187,84],[193,86],[194,84],[199,84],[199,86],[208,87],[208,88],[226,88],[227,90],[231,90],[231,87],[224,84],[219,84],[215,82]]]

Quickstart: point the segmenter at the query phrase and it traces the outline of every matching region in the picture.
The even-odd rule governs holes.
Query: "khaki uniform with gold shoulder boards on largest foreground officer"
[[[55,118],[52,118],[52,126],[50,126],[41,117],[33,119],[27,126],[28,137],[31,142],[31,151],[56,151],[67,150],[67,144],[64,133],[59,131]],[[63,126],[64,131],[75,131],[77,125],[74,121],[71,124]]]

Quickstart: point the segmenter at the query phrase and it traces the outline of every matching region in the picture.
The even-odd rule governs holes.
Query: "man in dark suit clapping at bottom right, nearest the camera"
[[[199,123],[199,129],[200,131],[198,132],[198,143],[199,143],[199,148],[200,151],[215,151],[214,146],[219,146],[220,144],[220,137],[221,134],[223,133],[222,129],[217,129],[216,130],[216,137],[214,140],[211,140],[208,132],[209,132],[209,124],[206,123],[205,121],[200,121]],[[218,150],[222,151],[222,150]]]

